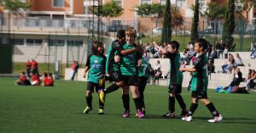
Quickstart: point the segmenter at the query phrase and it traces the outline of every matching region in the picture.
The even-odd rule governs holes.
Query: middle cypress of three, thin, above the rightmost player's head
[[[198,0],[195,0],[195,6],[193,7],[194,10],[194,18],[191,27],[191,42],[195,42],[198,39],[198,23],[199,23],[199,3]]]

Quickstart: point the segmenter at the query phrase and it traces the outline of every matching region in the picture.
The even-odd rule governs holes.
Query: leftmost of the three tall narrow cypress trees
[[[171,2],[166,0],[166,9],[164,14],[164,25],[162,30],[161,42],[171,42],[172,40],[172,14],[171,14]]]

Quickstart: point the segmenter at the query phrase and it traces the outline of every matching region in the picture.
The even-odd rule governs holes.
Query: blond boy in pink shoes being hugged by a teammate
[[[137,45],[134,43],[137,36],[137,31],[133,27],[128,27],[125,30],[125,39],[126,44],[123,46],[124,50],[134,49]],[[144,117],[142,110],[142,101],[140,98],[140,93],[138,91],[138,69],[137,67],[142,64],[142,53],[139,51],[135,53],[130,53],[125,56],[122,56],[120,60],[120,69],[125,80],[125,86],[123,89],[123,95],[129,93],[129,86],[131,87],[131,93],[134,100],[134,103],[137,108],[137,116],[139,119]],[[127,101],[123,98],[125,107],[125,113],[123,114],[124,118],[130,117],[130,107],[128,107]]]

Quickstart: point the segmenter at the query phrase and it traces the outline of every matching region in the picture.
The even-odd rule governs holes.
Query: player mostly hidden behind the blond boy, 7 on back
[[[139,82],[138,90],[139,90],[140,97],[141,97],[143,114],[146,114],[146,108],[145,108],[145,103],[144,103],[144,91],[145,91],[145,87],[147,85],[147,80],[150,75],[150,68],[151,68],[151,66],[148,64],[148,62],[144,58],[142,58],[142,65],[138,69],[138,76],[139,76],[138,77],[138,82]]]

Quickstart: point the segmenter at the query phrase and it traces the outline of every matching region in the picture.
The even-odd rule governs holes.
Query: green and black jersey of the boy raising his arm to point
[[[179,70],[180,68],[180,54],[169,53],[167,57],[170,58],[170,85],[182,85],[183,84],[183,73]]]

